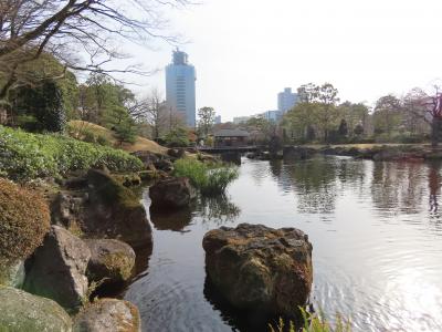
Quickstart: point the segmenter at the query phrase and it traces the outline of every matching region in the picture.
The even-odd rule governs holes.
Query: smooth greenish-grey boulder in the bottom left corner
[[[71,318],[52,300],[6,287],[0,299],[0,331],[72,331]]]

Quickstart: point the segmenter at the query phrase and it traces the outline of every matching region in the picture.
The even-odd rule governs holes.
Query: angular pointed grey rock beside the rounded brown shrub
[[[87,292],[90,258],[91,250],[83,240],[54,225],[30,261],[24,289],[75,311]]]

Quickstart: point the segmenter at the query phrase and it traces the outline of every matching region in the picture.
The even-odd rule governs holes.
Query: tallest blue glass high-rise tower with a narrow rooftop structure
[[[188,54],[173,51],[172,63],[166,66],[167,105],[182,116],[190,127],[196,126],[194,66],[189,64]]]

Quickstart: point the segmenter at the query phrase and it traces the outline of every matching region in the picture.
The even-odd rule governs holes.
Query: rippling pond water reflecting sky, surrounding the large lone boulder
[[[145,330],[266,330],[206,281],[203,235],[251,222],[308,234],[312,302],[327,317],[350,318],[354,331],[442,331],[441,163],[243,162],[227,197],[151,216],[149,267],[125,293]]]

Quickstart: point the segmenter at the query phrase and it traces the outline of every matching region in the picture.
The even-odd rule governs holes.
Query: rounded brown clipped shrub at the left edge
[[[0,178],[0,266],[31,255],[42,243],[50,220],[39,195]]]

